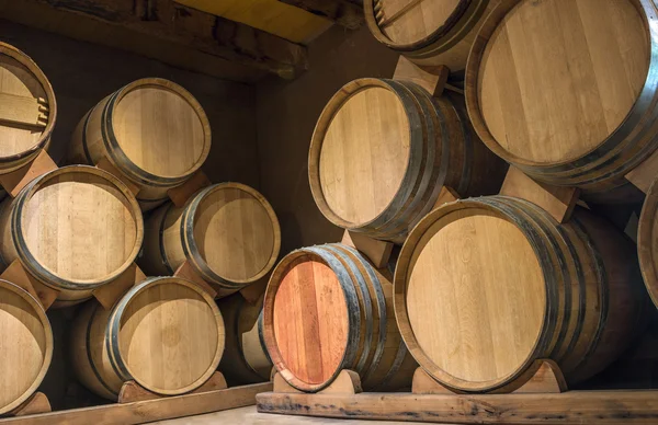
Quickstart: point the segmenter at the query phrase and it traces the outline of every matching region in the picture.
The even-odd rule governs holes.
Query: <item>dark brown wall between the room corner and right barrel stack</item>
[[[309,47],[310,71],[293,82],[268,79],[257,85],[261,191],[282,227],[282,254],[337,242],[342,231],[317,209],[308,185],[308,146],[327,101],[347,82],[392,78],[397,54],[379,45],[366,27],[334,26]]]

